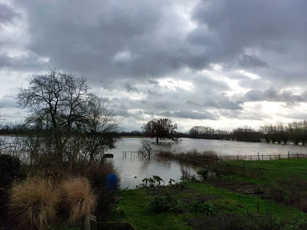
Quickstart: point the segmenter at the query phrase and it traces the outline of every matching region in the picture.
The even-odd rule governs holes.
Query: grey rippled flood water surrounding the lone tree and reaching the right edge
[[[260,155],[278,155],[288,154],[288,151],[290,154],[307,154],[307,146],[188,138],[183,138],[182,142],[178,144],[161,142],[161,144],[159,143],[159,145],[157,145],[155,139],[147,140],[150,142],[152,148],[156,150],[171,145],[172,149],[214,150],[219,155],[257,155],[257,153]],[[155,154],[152,155],[150,160],[142,158],[142,156],[139,156],[137,153],[140,147],[141,144],[138,138],[127,137],[123,138],[122,142],[117,144],[116,149],[108,151],[108,153],[114,154],[114,158],[110,160],[121,173],[122,188],[133,189],[142,183],[142,179],[152,177],[153,175],[160,176],[166,183],[170,178],[174,180],[180,179],[181,165],[179,162],[174,160],[163,160],[158,158]],[[126,157],[123,155],[123,151],[127,151]],[[131,151],[135,152],[135,154],[132,153],[131,155]]]

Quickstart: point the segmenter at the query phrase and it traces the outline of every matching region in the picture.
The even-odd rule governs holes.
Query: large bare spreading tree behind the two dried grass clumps
[[[35,154],[47,152],[53,164],[92,162],[119,140],[115,109],[91,93],[85,77],[57,70],[33,75],[19,88],[17,103],[28,110],[27,129],[37,130],[34,137],[43,143]]]

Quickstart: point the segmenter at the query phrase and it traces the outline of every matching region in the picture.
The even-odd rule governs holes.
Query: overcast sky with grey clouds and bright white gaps
[[[87,77],[127,131],[307,118],[306,0],[0,0],[0,104],[48,68]]]

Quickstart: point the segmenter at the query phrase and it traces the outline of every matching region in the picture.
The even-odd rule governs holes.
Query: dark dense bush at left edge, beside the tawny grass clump
[[[6,204],[8,202],[7,190],[12,186],[14,181],[25,177],[25,174],[20,171],[18,158],[9,154],[0,154],[0,216],[6,214]]]

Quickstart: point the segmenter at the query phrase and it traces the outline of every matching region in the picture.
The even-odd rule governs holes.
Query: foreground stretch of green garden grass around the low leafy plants
[[[285,222],[295,222],[296,219],[304,220],[307,217],[306,214],[300,212],[296,208],[277,204],[271,200],[262,200],[250,195],[217,189],[210,186],[208,183],[188,181],[187,187],[188,190],[184,193],[180,192],[180,190],[172,189],[169,189],[169,192],[174,197],[184,200],[193,200],[195,197],[203,196],[215,197],[215,199],[209,202],[215,206],[217,215],[210,220],[217,217],[227,219],[229,216],[234,215],[239,217],[238,219],[248,218],[255,222],[260,221],[260,219],[265,219],[266,221],[272,220],[277,225],[280,221],[283,221],[283,223],[280,224],[285,225]],[[206,217],[204,214],[178,214],[171,211],[159,214],[152,213],[145,209],[154,197],[152,191],[148,189],[124,190],[121,191],[120,196],[121,201],[118,204],[119,209],[112,221],[128,221],[137,229],[192,229],[192,227],[188,225],[191,219]],[[244,227],[236,229],[244,229]]]

